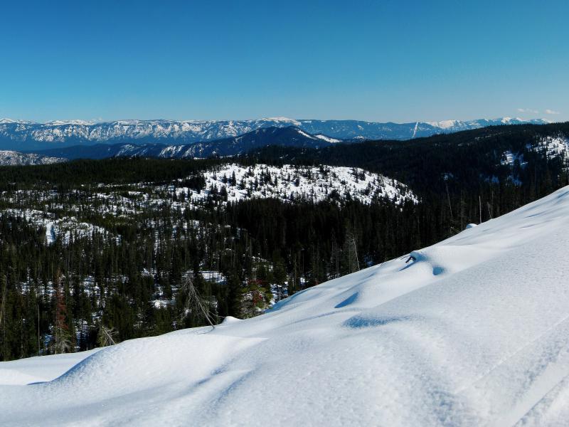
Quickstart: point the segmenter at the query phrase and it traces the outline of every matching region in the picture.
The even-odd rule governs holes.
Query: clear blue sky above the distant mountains
[[[0,117],[569,120],[569,2],[16,1]]]

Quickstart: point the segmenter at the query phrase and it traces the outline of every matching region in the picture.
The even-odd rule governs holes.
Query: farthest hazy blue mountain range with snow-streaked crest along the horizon
[[[379,123],[358,120],[294,120],[274,117],[258,120],[117,120],[85,122],[58,120],[36,123],[23,120],[0,120],[0,149],[33,150],[85,144],[191,142],[223,139],[243,135],[265,127],[295,126],[312,135],[332,139],[411,139],[441,132],[477,129],[490,125],[519,123],[543,124],[546,120],[521,120],[504,117],[495,120],[447,120],[442,122]],[[331,141],[329,141],[331,142]]]

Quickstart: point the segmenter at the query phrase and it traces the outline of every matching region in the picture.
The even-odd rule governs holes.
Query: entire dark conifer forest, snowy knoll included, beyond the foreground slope
[[[566,184],[568,134],[511,126],[238,159],[2,167],[0,359],[257,315]]]

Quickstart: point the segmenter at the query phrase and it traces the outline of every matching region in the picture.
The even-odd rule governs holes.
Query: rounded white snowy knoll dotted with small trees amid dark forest
[[[387,199],[395,204],[418,201],[405,184],[359,168],[290,164],[283,167],[267,164],[240,167],[225,164],[206,172],[204,177],[206,187],[200,193],[184,188],[178,188],[176,192],[185,193],[194,202],[207,199],[212,191],[227,194],[227,201],[253,198],[314,202],[354,199],[364,204],[378,199]]]

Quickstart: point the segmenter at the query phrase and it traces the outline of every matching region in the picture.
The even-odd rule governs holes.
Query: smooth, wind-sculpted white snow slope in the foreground
[[[563,426],[568,245],[566,187],[260,317],[124,342],[43,384],[24,385],[41,358],[0,364],[21,374],[0,424]]]

